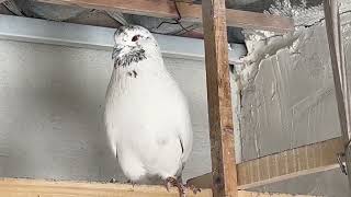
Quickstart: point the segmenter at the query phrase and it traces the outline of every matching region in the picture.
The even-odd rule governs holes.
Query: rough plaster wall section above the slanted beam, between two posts
[[[340,135],[325,27],[306,34],[297,53],[263,59],[241,92],[244,160]]]

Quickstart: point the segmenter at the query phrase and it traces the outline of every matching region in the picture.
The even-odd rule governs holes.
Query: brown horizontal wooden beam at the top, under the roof
[[[116,10],[123,13],[147,15],[155,18],[179,18],[173,0],[39,0],[55,4],[79,5],[99,10]],[[202,22],[202,9],[199,4],[178,2],[178,9],[183,21]],[[227,9],[227,26],[242,28],[267,30],[273,32],[290,32],[294,30],[292,19]]]

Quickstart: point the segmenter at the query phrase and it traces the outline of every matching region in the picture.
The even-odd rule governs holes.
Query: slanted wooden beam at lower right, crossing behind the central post
[[[286,150],[237,164],[238,188],[247,189],[274,182],[339,167],[337,154],[343,151],[341,138]],[[192,178],[189,184],[212,187],[212,175]]]

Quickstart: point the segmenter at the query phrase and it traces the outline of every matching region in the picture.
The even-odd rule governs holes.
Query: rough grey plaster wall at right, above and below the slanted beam
[[[351,61],[350,19],[342,15],[347,63]],[[281,40],[268,47],[274,48],[273,55],[251,62],[258,71],[241,92],[242,160],[341,135],[324,24]],[[347,176],[338,169],[257,189],[351,196]]]

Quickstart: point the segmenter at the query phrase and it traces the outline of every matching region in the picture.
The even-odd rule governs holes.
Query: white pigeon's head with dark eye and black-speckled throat
[[[120,27],[114,34],[115,46],[112,59],[114,67],[127,67],[133,62],[152,58],[159,54],[159,48],[152,34],[137,25]]]

